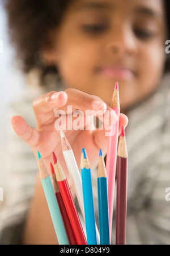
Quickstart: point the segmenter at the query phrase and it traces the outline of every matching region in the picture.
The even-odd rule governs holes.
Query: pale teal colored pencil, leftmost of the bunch
[[[48,203],[50,215],[52,217],[54,229],[56,231],[58,243],[59,245],[69,245],[69,240],[67,238],[61,212],[59,210],[56,196],[54,194],[54,189],[53,189],[52,181],[50,179],[50,175],[48,173],[48,170],[46,169],[44,161],[42,160],[40,152],[37,152],[37,157],[39,160],[41,183],[44,189],[46,201]]]

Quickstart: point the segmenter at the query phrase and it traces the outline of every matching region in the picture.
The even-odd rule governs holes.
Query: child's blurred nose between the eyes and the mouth
[[[137,42],[133,30],[128,24],[118,24],[112,29],[105,44],[105,51],[109,56],[111,54],[124,56],[137,53]]]

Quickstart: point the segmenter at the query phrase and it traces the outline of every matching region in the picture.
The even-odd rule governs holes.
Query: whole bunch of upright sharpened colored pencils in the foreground
[[[71,195],[65,172],[53,152],[54,166],[50,163],[51,178],[37,152],[39,160],[42,187],[52,217],[54,229],[59,244],[62,245],[109,245],[112,235],[112,214],[114,183],[117,171],[117,198],[116,198],[116,245],[126,244],[126,192],[128,153],[126,147],[125,130],[122,127],[118,140],[119,96],[118,83],[114,89],[112,108],[118,115],[114,127],[111,127],[111,136],[108,138],[107,165],[105,167],[103,152],[99,152],[97,174],[97,190],[99,205],[99,230],[95,220],[94,199],[92,193],[91,167],[86,149],[82,149],[80,171],[76,164],[73,150],[61,131],[61,145],[63,156],[69,170],[71,181],[74,184],[76,198],[86,223],[82,226],[78,211]],[[114,129],[114,133],[113,132]],[[118,150],[117,150],[118,148]],[[81,172],[81,174],[80,174]]]

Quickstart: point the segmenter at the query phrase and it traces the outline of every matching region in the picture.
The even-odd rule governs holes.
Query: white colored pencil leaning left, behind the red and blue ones
[[[63,157],[65,158],[67,169],[69,170],[71,180],[74,184],[76,198],[78,199],[80,210],[82,211],[83,219],[85,221],[82,177],[80,175],[80,171],[76,163],[75,156],[69,141],[67,140],[62,130],[60,130],[60,134],[61,134],[61,145],[62,145]],[[99,234],[97,225],[96,225],[96,236],[97,236],[97,244],[100,244],[100,234]]]

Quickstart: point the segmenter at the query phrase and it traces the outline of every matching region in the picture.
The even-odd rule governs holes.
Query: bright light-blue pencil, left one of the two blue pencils
[[[96,238],[94,199],[92,194],[91,169],[90,169],[90,163],[88,161],[85,149],[82,150],[80,169],[82,173],[87,243],[88,245],[96,245],[97,238]]]

